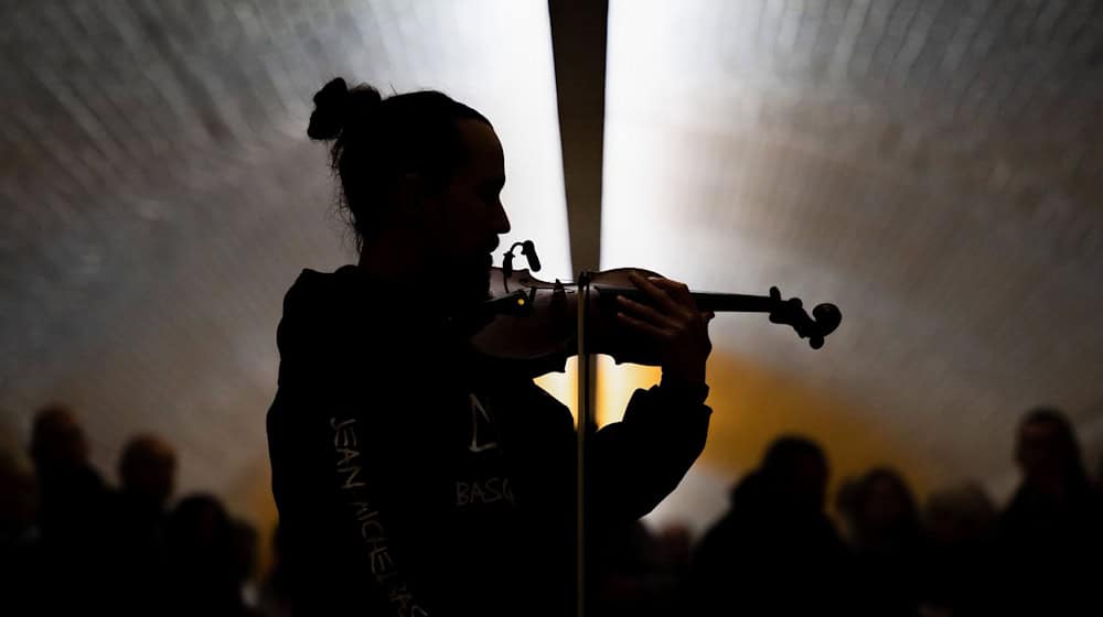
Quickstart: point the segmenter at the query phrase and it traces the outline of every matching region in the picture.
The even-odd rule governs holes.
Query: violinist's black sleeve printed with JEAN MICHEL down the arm
[[[375,414],[360,394],[370,385],[353,379],[343,368],[347,358],[322,343],[328,333],[297,336],[286,327],[288,316],[285,308],[279,389],[267,427],[272,491],[298,584],[313,607],[429,615],[393,541],[393,513],[378,490],[383,478],[370,464],[376,427],[367,422]]]

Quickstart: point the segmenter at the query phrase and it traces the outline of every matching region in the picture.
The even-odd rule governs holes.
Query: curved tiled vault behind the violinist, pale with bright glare
[[[611,3],[602,266],[844,311],[818,353],[764,318],[714,323],[719,481],[771,432],[820,427],[854,461],[998,486],[1038,402],[1101,443],[1100,6]],[[542,2],[2,7],[9,443],[60,400],[105,468],[153,430],[183,488],[270,500],[280,301],[352,247],[303,134],[333,75],[484,111],[514,235],[569,273]]]

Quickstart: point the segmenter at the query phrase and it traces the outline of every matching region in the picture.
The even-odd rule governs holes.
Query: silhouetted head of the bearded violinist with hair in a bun
[[[333,141],[332,166],[362,253],[408,245],[415,271],[440,268],[484,297],[491,251],[510,223],[502,145],[483,115],[439,91],[383,98],[333,79],[314,95],[308,134]]]

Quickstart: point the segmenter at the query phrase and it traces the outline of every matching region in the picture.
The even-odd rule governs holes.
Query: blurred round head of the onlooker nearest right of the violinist
[[[759,474],[774,498],[801,509],[823,509],[827,456],[812,440],[797,435],[779,437],[767,450]]]

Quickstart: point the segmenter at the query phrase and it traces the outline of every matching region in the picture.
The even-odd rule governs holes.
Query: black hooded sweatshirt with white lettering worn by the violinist
[[[287,593],[311,615],[570,614],[570,412],[470,353],[431,301],[353,266],[306,270],[285,299],[268,444]],[[638,390],[589,439],[589,539],[677,486],[705,445],[703,394]]]

